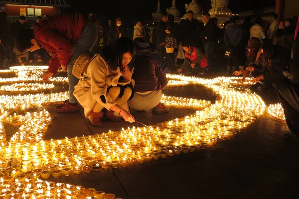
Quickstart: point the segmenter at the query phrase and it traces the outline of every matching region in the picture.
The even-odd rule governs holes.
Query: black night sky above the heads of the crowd
[[[181,15],[186,13],[185,3],[192,0],[176,0],[176,6],[181,10]],[[157,9],[157,0],[69,0],[70,8],[65,11],[77,11],[88,15],[90,12],[96,13],[103,22],[108,19],[115,20],[122,18],[127,25],[137,19],[149,21],[151,12]],[[161,11],[166,13],[166,8],[171,7],[172,0],[160,0]],[[208,11],[211,8],[210,0],[197,0],[202,6],[202,10]],[[261,9],[273,7],[275,0],[230,0],[229,8],[232,12]]]

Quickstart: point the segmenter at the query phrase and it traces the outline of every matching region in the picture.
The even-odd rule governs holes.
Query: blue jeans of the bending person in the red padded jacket
[[[73,62],[81,54],[91,51],[98,39],[98,31],[95,24],[91,21],[88,21],[83,27],[81,32],[81,37],[77,40],[76,44],[73,47],[72,55],[70,61],[67,65],[67,77],[69,81],[69,90],[70,90],[70,103],[78,103],[77,99],[74,96],[75,86],[78,84],[79,79],[73,76]]]

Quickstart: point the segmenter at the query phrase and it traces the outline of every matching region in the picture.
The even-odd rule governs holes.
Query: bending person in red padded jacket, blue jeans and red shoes
[[[72,74],[73,61],[93,48],[98,37],[95,25],[80,13],[59,14],[36,23],[33,34],[30,30],[21,31],[16,39],[16,48],[21,52],[34,51],[41,47],[48,51],[52,57],[48,71],[43,74],[43,80],[48,81],[60,66],[63,71],[67,71],[69,80],[70,99],[58,105],[56,111],[79,110],[80,105],[73,95],[79,81]]]

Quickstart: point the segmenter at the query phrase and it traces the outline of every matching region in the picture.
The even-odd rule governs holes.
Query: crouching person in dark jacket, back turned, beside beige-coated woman
[[[133,79],[135,80],[135,93],[132,100],[128,101],[131,108],[137,111],[152,109],[153,114],[167,112],[160,101],[162,90],[167,86],[165,74],[150,54],[143,49],[143,43],[136,42],[137,55],[135,56],[135,70]]]

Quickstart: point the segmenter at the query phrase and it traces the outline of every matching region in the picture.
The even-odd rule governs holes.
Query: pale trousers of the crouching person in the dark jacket
[[[162,91],[153,91],[147,95],[140,95],[138,93],[134,93],[134,97],[132,100],[128,101],[128,105],[135,110],[149,110],[161,101]]]

